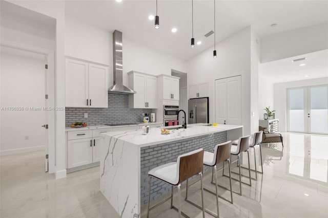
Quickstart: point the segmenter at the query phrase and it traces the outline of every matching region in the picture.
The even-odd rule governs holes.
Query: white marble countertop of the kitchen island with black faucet
[[[179,125],[181,126],[181,125]],[[171,126],[172,127],[172,126]],[[142,129],[103,133],[101,135],[119,138],[119,140],[138,145],[139,147],[166,143],[180,139],[223,132],[230,129],[241,128],[242,125],[207,126],[206,123],[188,124],[187,129],[171,129],[169,135],[161,135],[160,128],[150,128],[148,135],[142,135]]]

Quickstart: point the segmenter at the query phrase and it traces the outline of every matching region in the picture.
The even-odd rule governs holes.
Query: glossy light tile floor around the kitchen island
[[[252,180],[252,186],[242,184],[242,196],[233,194],[234,204],[219,199],[221,217],[328,217],[328,136],[283,136],[282,151],[281,144],[262,145],[263,176]],[[0,157],[0,217],[120,217],[99,191],[99,167],[55,180],[54,175],[43,171],[43,157],[44,151]],[[251,163],[253,160],[251,156]],[[235,165],[233,169],[237,170]],[[246,175],[247,171],[242,171]],[[214,190],[210,180],[211,173],[204,173],[204,186]],[[247,178],[242,180],[247,182]],[[229,179],[219,177],[219,182],[228,187]],[[189,198],[196,203],[200,203],[199,187],[197,182],[189,191]],[[233,189],[238,191],[238,187],[233,181]],[[219,192],[230,196],[227,190]],[[182,211],[190,217],[202,217],[199,209],[183,199]],[[175,205],[176,200],[175,195]],[[150,217],[178,217],[169,204],[152,210]],[[214,195],[204,192],[204,204],[216,211]],[[141,217],[146,217],[144,208]]]

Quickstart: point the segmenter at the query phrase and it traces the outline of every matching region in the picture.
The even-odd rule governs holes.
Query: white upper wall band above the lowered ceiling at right
[[[328,49],[328,23],[261,39],[261,63]]]

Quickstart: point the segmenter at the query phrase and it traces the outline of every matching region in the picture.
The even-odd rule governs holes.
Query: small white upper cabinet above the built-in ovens
[[[179,78],[159,75],[159,89],[162,89],[162,98],[166,100],[179,100]],[[161,88],[162,87],[162,88]]]

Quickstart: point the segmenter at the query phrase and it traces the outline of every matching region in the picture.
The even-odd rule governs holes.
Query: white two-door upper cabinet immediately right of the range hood
[[[130,108],[157,108],[157,77],[130,71],[129,87],[136,94],[129,95]]]

